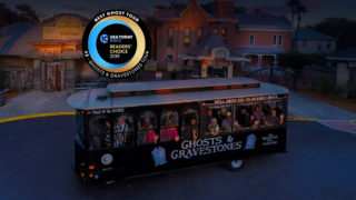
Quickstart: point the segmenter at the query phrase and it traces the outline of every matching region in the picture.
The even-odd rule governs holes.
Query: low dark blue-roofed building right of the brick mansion
[[[293,32],[293,48],[303,53],[329,54],[336,51],[337,39],[308,28]]]

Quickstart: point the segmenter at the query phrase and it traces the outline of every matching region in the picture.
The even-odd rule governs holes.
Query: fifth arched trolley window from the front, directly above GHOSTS
[[[202,138],[199,132],[199,111],[195,108],[188,108],[182,111],[181,140],[197,140]]]

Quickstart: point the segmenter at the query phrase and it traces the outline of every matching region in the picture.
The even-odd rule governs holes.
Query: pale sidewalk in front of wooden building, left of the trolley
[[[32,90],[24,92],[9,99],[6,106],[0,107],[0,119],[37,113],[72,112],[75,109],[67,104],[67,98],[66,91]]]

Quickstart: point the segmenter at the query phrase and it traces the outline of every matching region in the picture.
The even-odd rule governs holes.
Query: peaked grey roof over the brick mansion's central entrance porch
[[[191,49],[188,54],[190,56],[211,56],[211,50],[215,48],[225,48],[229,47],[224,42],[224,40],[215,32],[209,32],[205,36],[201,41],[197,44],[196,48]]]

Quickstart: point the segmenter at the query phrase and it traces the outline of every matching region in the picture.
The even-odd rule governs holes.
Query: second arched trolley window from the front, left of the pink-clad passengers
[[[134,117],[121,113],[113,122],[113,148],[131,146],[134,143]]]

